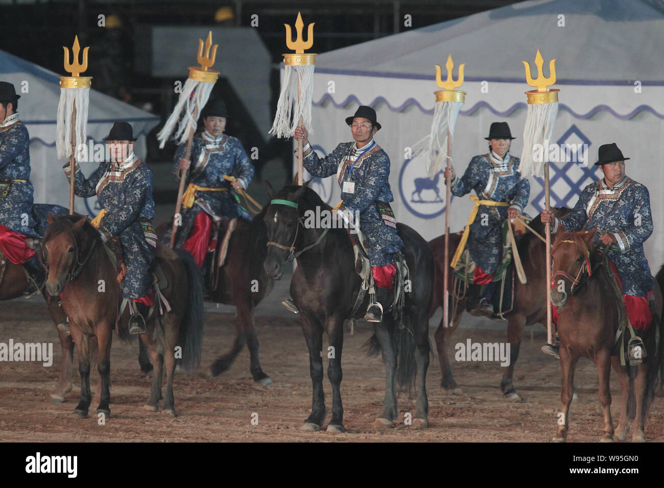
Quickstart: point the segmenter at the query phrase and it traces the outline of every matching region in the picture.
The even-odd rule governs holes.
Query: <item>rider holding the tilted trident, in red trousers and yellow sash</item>
[[[254,177],[254,166],[242,143],[224,134],[228,114],[222,100],[208,101],[201,116],[205,129],[193,138],[189,159],[185,159],[187,144],[178,147],[174,171],[179,179],[181,171],[191,168],[187,175],[189,185],[182,199],[182,225],[175,247],[189,251],[199,267],[203,268],[213,222],[220,222],[222,217],[252,220],[230,189],[246,190]],[[170,229],[164,232],[161,240],[170,242]]]

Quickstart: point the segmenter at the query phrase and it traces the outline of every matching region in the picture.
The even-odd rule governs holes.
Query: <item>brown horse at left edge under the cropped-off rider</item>
[[[0,301],[11,300],[23,296],[28,287],[28,278],[25,270],[20,264],[14,264],[0,252]],[[42,292],[46,300],[48,314],[57,326],[66,323],[67,316],[58,305],[57,300],[51,299]],[[72,390],[72,358],[74,357],[74,343],[72,338],[64,330],[57,329],[62,347],[62,365],[60,365],[60,376],[58,384],[50,392],[54,402],[64,402],[64,395]]]

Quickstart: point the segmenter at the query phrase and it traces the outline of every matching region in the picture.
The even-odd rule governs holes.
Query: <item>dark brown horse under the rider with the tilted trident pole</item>
[[[230,368],[246,343],[250,355],[250,372],[254,381],[268,386],[272,384],[270,376],[265,374],[260,367],[258,335],[254,320],[254,309],[274,287],[274,280],[263,269],[263,261],[268,249],[268,234],[263,222],[264,214],[265,209],[254,216],[251,222],[238,218],[235,230],[228,242],[226,261],[219,269],[218,286],[214,290],[207,290],[206,301],[235,305],[237,313],[233,345],[228,353],[218,357],[207,368],[206,376],[208,378],[217,376]],[[157,228],[160,238],[162,232],[170,226],[171,224],[165,222]],[[222,234],[217,240],[216,256],[219,255],[221,246]],[[205,282],[207,286],[208,280]],[[143,368],[142,365],[141,368]]]

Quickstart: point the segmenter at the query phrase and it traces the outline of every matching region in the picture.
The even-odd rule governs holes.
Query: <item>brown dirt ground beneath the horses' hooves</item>
[[[66,402],[50,402],[61,356],[58,336],[46,307],[38,301],[0,304],[3,321],[0,342],[52,342],[54,363],[0,363],[0,441],[10,442],[546,442],[556,430],[560,405],[560,365],[542,355],[539,347],[544,334],[527,335],[515,370],[515,386],[521,402],[503,400],[499,389],[502,368],[498,363],[453,363],[461,388],[457,394],[440,388],[438,360],[432,357],[427,377],[429,422],[427,430],[404,426],[405,412],[414,412],[414,400],[401,394],[401,424],[381,431],[373,427],[382,407],[384,368],[379,357],[368,358],[362,345],[371,335],[371,326],[360,323],[355,335],[345,335],[343,382],[345,434],[302,432],[299,430],[311,408],[309,361],[299,322],[282,317],[258,317],[258,337],[263,370],[274,386],[255,384],[249,372],[249,354],[240,353],[226,373],[206,380],[203,374],[175,376],[177,418],[143,410],[151,379],[145,378],[137,363],[138,345],[114,341],[111,358],[111,416],[98,425],[96,404],[90,417],[80,419],[71,412],[78,402],[80,379],[74,358],[74,390]],[[434,330],[430,337],[433,341]],[[233,316],[206,313],[202,370],[222,352],[234,337]],[[504,331],[459,329],[453,343],[504,341]],[[325,341],[325,349],[327,342]],[[324,349],[324,350],[325,350]],[[454,357],[454,345],[450,345]],[[327,367],[327,361],[325,361]],[[98,374],[92,373],[93,387]],[[594,365],[582,359],[575,378],[578,400],[570,411],[570,442],[596,442],[602,435],[602,416],[597,400]],[[327,400],[327,421],[331,410],[331,387],[327,374],[323,381]],[[612,375],[614,422],[618,416],[620,388]],[[252,424],[258,414],[258,424]],[[256,415],[254,415],[256,418]],[[327,425],[327,424],[326,424]],[[664,439],[664,402],[655,398],[646,424],[649,441]],[[628,434],[627,439],[631,439]]]

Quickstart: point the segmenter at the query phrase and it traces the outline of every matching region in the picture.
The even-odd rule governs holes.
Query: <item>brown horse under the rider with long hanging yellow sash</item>
[[[567,208],[552,208],[556,216],[563,216],[569,212]],[[544,224],[537,216],[529,224],[538,234],[544,235]],[[452,254],[456,249],[461,236],[457,234],[450,234],[450,260]],[[430,317],[434,315],[438,307],[443,304],[443,280],[444,280],[444,263],[445,260],[445,236],[438,236],[429,242],[429,247],[434,254],[436,261],[436,282],[434,284],[434,300],[432,301],[432,308]],[[519,280],[515,280],[515,300],[513,310],[506,314],[507,318],[507,340],[510,344],[510,359],[509,366],[505,367],[503,373],[503,380],[501,381],[501,390],[503,397],[507,400],[520,400],[517,390],[513,384],[514,366],[519,359],[519,347],[521,347],[521,339],[523,339],[524,328],[528,325],[535,325],[536,323],[546,323],[546,244],[542,242],[535,234],[529,232],[523,236],[517,243],[519,256],[523,264],[523,270],[526,274],[527,283],[522,284]],[[449,264],[448,264],[449,266]],[[457,382],[452,375],[452,368],[450,368],[450,359],[448,359],[447,347],[452,339],[452,334],[461,321],[461,315],[465,310],[465,298],[462,298],[457,303],[456,314],[452,315],[452,302],[454,301],[454,275],[452,272],[448,275],[448,290],[450,290],[450,313],[448,314],[449,326],[445,327],[444,318],[441,319],[438,329],[436,329],[436,349],[438,351],[438,361],[440,362],[440,372],[442,379],[440,386],[444,390],[457,391]]]

